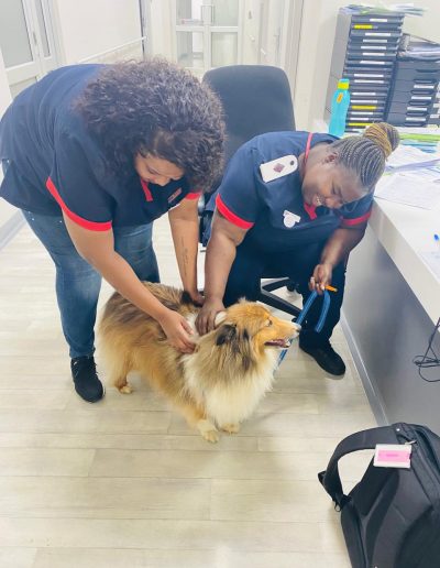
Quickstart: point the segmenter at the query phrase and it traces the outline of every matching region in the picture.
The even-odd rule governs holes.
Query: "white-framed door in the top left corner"
[[[1,0],[0,47],[12,97],[57,67],[48,0]]]

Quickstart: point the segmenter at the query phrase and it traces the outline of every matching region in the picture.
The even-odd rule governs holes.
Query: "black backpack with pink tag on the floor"
[[[372,460],[344,495],[339,459],[376,444],[411,444],[410,469],[378,468]],[[318,478],[341,511],[353,568],[440,567],[440,438],[429,428],[398,423],[353,434]]]

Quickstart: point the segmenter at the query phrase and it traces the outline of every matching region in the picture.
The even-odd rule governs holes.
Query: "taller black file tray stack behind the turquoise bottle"
[[[327,120],[331,97],[341,77],[350,79],[348,132],[362,131],[372,122],[385,119],[404,15],[362,7],[339,10],[326,101]]]

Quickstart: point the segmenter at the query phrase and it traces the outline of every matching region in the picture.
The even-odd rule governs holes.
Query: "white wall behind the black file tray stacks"
[[[427,12],[421,18],[406,17],[404,31],[440,41],[439,0],[414,0],[414,3],[427,8]],[[323,117],[338,10],[348,4],[348,0],[304,0],[294,94],[298,130],[312,129],[314,122]]]

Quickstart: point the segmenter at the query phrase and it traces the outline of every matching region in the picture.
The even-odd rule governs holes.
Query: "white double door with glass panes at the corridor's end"
[[[174,0],[175,57],[201,77],[241,61],[241,0]]]

